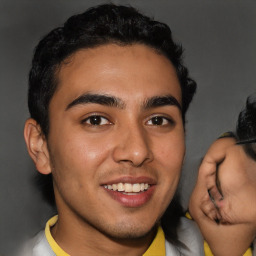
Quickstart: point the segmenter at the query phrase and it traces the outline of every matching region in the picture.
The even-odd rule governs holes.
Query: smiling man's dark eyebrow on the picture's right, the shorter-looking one
[[[163,106],[176,106],[179,110],[182,110],[180,103],[172,95],[152,97],[147,99],[143,105],[145,109]]]

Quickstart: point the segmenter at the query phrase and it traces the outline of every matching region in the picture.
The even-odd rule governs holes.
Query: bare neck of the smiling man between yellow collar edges
[[[51,228],[57,244],[68,254],[82,255],[143,255],[155,237],[156,229],[140,238],[120,239],[104,234],[84,219],[59,215]]]

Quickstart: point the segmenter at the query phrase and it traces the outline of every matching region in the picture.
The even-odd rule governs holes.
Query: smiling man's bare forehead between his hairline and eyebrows
[[[70,101],[80,94],[111,94],[125,101],[173,95],[181,103],[181,88],[172,63],[156,50],[140,44],[103,45],[82,49],[66,59],[57,74],[52,101]]]

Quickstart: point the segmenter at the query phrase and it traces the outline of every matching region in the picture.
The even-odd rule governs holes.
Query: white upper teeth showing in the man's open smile
[[[104,185],[104,188],[118,192],[139,193],[148,190],[150,185],[148,183],[118,183],[112,185]]]

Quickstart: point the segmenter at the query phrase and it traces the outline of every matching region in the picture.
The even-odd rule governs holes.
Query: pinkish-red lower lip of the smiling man
[[[109,190],[107,188],[104,189],[114,200],[119,202],[121,205],[125,207],[136,208],[143,206],[151,199],[155,191],[155,186],[151,186],[148,190],[136,195],[126,195],[122,192]]]

